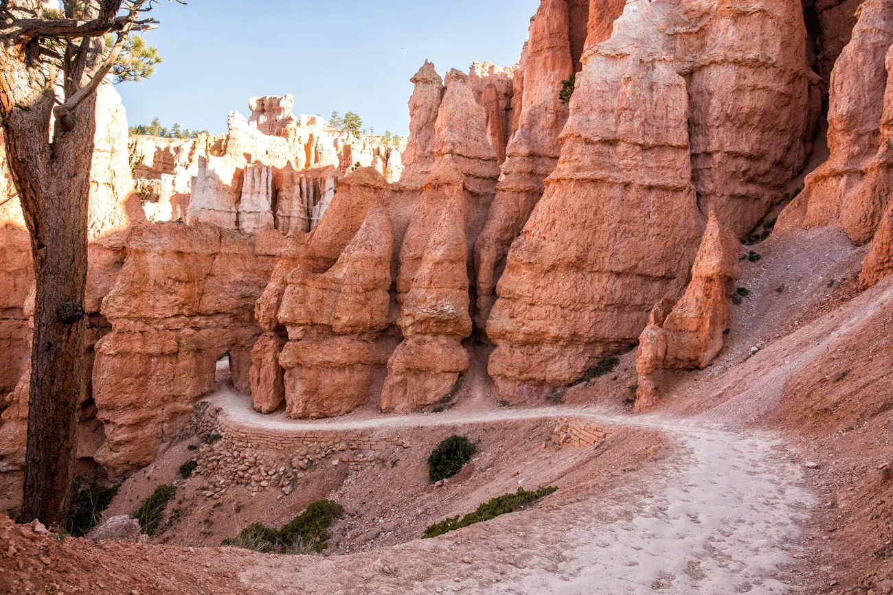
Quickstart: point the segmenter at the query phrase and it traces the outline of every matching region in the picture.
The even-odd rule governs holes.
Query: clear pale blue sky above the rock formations
[[[475,60],[518,61],[538,0],[188,0],[162,2],[146,34],[164,62],[124,83],[131,125],[225,132],[252,95],[295,96],[296,113],[354,111],[377,133],[409,129],[409,79]]]

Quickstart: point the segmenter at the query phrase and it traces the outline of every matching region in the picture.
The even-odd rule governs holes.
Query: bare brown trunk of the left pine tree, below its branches
[[[10,169],[20,193],[34,261],[34,338],[28,406],[25,483],[20,522],[40,519],[64,526],[77,456],[78,404],[83,391],[84,312],[90,167],[96,131],[96,96],[56,130],[50,159],[45,143],[52,102],[13,110],[6,126]],[[59,123],[56,126],[60,126]],[[45,167],[46,166],[46,167]]]

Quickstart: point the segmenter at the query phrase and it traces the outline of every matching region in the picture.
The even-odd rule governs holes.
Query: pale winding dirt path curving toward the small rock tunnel
[[[213,402],[238,425],[283,432],[590,417],[647,426],[677,443],[649,467],[646,485],[600,500],[537,508],[434,540],[331,558],[270,557],[239,579],[255,592],[318,593],[740,593],[803,592],[798,524],[814,499],[802,463],[769,434],[736,434],[665,417],[589,409],[497,409],[438,415],[298,422],[265,417],[243,395]],[[622,472],[618,470],[617,473]]]

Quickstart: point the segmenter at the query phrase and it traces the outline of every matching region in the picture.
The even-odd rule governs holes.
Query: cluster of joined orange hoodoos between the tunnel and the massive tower
[[[505,71],[481,69],[451,70],[445,80],[426,62],[413,77],[417,134],[403,178],[392,184],[373,168],[351,171],[319,225],[283,254],[258,306],[255,409],[284,401],[292,417],[367,404],[405,411],[453,391],[469,366],[462,341],[472,333],[471,246],[499,176],[493,118],[507,118],[498,113]],[[505,96],[488,115],[483,90],[494,81]]]

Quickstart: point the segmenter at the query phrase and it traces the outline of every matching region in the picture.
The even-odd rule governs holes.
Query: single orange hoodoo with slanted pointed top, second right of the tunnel
[[[388,361],[394,232],[380,204],[331,269],[294,269],[282,298],[280,323],[288,343],[280,355],[291,417],[328,417],[365,403]]]

